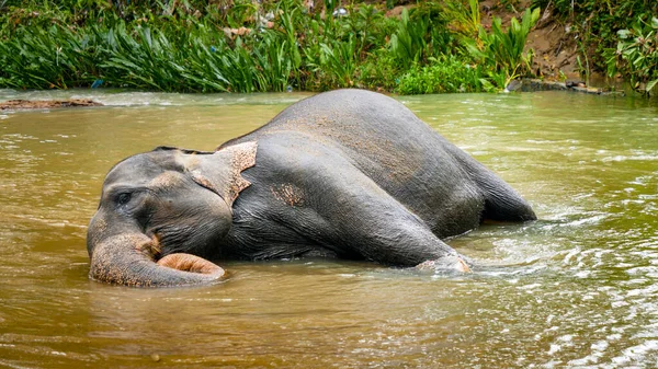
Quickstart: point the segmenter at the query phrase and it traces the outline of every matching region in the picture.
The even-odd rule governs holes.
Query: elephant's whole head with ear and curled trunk
[[[160,147],[116,164],[87,233],[90,277],[127,286],[222,280],[224,269],[205,257],[218,256],[256,150],[254,142],[216,152]]]

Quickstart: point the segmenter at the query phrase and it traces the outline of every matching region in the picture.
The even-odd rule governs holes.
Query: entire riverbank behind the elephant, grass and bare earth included
[[[639,71],[614,54],[601,62],[616,31],[590,47],[586,31],[600,30],[580,21],[587,9],[560,1],[204,3],[7,1],[0,88],[418,94],[501,91],[523,77],[610,72],[638,90],[658,79],[651,58]],[[650,20],[657,7],[633,0],[614,14]],[[631,28],[634,18],[614,26]]]

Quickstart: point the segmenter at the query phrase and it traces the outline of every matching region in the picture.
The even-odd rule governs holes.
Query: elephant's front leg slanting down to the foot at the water
[[[339,169],[336,169],[339,168]],[[315,210],[336,245],[388,265],[444,261],[467,270],[458,254],[418,216],[352,165],[326,168],[310,177],[322,186]],[[311,184],[313,186],[314,184]],[[331,204],[331,206],[327,206]]]

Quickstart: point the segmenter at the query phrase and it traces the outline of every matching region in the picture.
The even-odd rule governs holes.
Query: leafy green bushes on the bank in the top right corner
[[[533,0],[532,5],[548,9],[570,28],[583,78],[601,72],[643,94],[658,91],[658,1]]]

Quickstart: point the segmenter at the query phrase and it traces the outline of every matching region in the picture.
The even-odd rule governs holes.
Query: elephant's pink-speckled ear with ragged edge
[[[228,206],[251,183],[240,174],[256,165],[258,145],[254,141],[223,148],[209,155],[189,157],[185,163],[192,180],[219,195]]]

